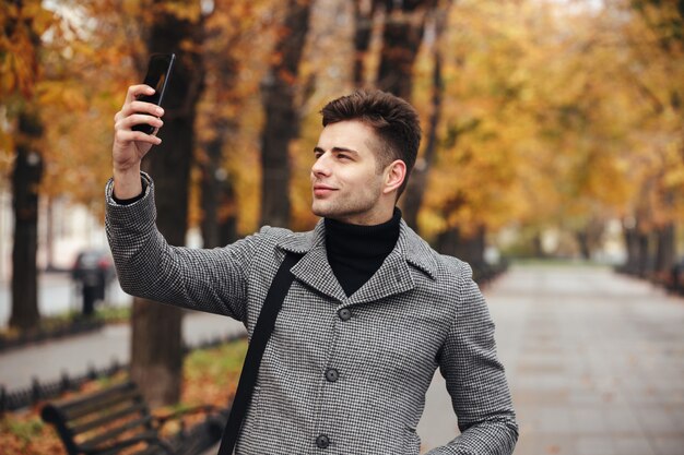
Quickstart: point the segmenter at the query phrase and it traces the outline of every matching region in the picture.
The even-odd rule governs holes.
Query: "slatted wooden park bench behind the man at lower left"
[[[181,418],[189,414],[212,412],[202,424],[185,431]],[[221,439],[226,409],[200,406],[157,417],[132,382],[75,399],[47,404],[40,417],[57,429],[69,455],[115,455],[126,453],[200,454]],[[180,433],[169,441],[160,430],[170,420],[179,420]],[[132,452],[137,450],[138,452]]]

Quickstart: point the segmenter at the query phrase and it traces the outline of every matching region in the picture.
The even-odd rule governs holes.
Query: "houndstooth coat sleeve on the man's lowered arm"
[[[428,455],[509,455],[518,424],[496,356],[494,322],[470,266],[459,265],[458,311],[438,361],[461,434]]]

